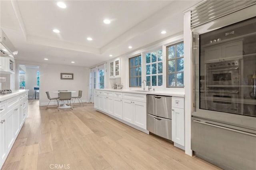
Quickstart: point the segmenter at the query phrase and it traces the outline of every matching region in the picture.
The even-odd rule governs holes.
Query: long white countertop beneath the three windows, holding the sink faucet
[[[164,96],[174,96],[174,97],[185,97],[184,92],[180,91],[136,91],[136,90],[128,90],[128,89],[94,89],[101,91],[116,91],[116,92],[124,92],[124,93],[138,93],[145,95],[164,95]]]

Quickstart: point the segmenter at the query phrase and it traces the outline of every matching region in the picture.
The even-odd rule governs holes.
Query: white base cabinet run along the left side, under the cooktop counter
[[[28,92],[0,101],[0,168],[4,164],[28,112]]]

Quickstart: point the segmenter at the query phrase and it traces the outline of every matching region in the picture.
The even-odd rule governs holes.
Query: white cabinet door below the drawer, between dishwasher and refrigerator
[[[184,109],[172,107],[172,141],[185,144]]]

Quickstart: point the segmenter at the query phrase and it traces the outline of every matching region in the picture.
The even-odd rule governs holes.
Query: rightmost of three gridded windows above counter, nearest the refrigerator
[[[166,87],[184,87],[184,43],[166,47],[167,84]]]

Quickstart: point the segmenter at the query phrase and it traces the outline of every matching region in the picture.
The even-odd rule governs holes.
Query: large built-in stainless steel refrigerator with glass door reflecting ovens
[[[210,7],[222,11],[229,6],[225,3],[250,5],[193,26],[193,15],[205,12],[207,3],[216,3]],[[191,148],[224,169],[256,169],[255,9],[255,1],[206,1],[191,10]]]

